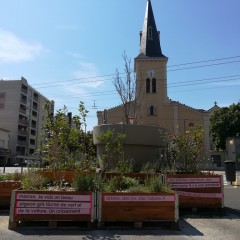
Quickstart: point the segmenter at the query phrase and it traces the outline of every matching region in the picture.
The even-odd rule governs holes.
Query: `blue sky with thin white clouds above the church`
[[[121,103],[113,74],[123,71],[124,51],[132,62],[138,55],[146,0],[0,0],[0,6],[0,79],[23,76],[56,109],[66,105],[73,114],[85,102],[89,130],[96,111]],[[214,101],[237,103],[240,1],[152,0],[152,6],[169,58],[169,98],[205,110]]]

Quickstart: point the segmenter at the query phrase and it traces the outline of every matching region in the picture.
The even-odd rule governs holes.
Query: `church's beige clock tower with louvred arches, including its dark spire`
[[[139,55],[134,60],[136,95],[143,113],[147,115],[153,115],[159,106],[168,101],[167,61],[161,50],[160,32],[157,31],[152,4],[147,0]]]

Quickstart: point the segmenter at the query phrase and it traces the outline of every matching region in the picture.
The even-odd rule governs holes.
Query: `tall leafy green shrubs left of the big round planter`
[[[52,116],[49,103],[45,106],[47,120],[45,134],[39,153],[44,153],[43,160],[54,170],[75,170],[76,162],[96,159],[96,148],[93,144],[92,132],[86,132],[86,116],[88,111],[84,103],[79,104],[79,115],[73,117],[73,124],[67,118],[67,107]],[[82,164],[84,165],[84,164]],[[89,167],[85,164],[84,167]],[[84,169],[86,170],[86,169]]]

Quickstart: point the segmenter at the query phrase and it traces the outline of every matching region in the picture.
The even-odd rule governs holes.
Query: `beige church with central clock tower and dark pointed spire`
[[[117,123],[153,125],[165,128],[173,135],[184,133],[191,126],[200,125],[205,132],[204,151],[209,154],[209,111],[194,109],[169,99],[167,62],[168,58],[161,49],[160,32],[155,23],[151,0],[148,0],[143,29],[140,32],[139,54],[134,59],[136,96],[138,104],[141,105],[138,116],[133,113],[132,122],[127,122],[124,106],[119,105],[98,111],[98,125]]]

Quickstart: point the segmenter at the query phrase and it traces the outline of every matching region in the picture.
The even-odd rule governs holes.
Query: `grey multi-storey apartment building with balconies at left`
[[[0,128],[9,131],[10,164],[35,159],[49,101],[25,78],[0,80]],[[54,102],[50,104],[54,112]]]

